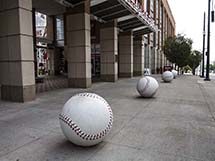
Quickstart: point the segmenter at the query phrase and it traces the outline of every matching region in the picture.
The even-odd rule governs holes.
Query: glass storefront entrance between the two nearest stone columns
[[[36,78],[67,72],[64,54],[63,16],[48,17],[36,12]],[[55,33],[52,31],[55,27]],[[51,29],[51,31],[50,31]]]

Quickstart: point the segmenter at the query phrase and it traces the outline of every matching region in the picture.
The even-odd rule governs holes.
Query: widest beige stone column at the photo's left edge
[[[25,102],[35,98],[32,2],[0,3],[1,98]]]

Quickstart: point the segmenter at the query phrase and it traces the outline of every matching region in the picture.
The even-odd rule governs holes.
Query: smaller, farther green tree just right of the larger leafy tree
[[[202,58],[202,53],[198,50],[193,50],[188,58],[188,65],[192,68],[192,73],[195,75],[195,69],[199,66]]]

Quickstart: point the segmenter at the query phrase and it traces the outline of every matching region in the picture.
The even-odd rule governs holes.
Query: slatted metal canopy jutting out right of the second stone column
[[[118,19],[118,27],[123,31],[142,26],[148,28],[147,33],[156,31],[153,20],[142,12],[139,4],[131,0],[92,0],[91,14],[104,22]]]

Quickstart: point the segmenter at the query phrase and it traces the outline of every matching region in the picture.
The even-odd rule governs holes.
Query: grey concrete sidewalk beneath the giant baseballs
[[[133,78],[0,102],[0,161],[214,161],[215,82],[155,77],[160,88],[152,99],[138,97]],[[68,142],[58,121],[63,104],[83,91],[103,96],[114,114],[110,135],[89,148]]]

